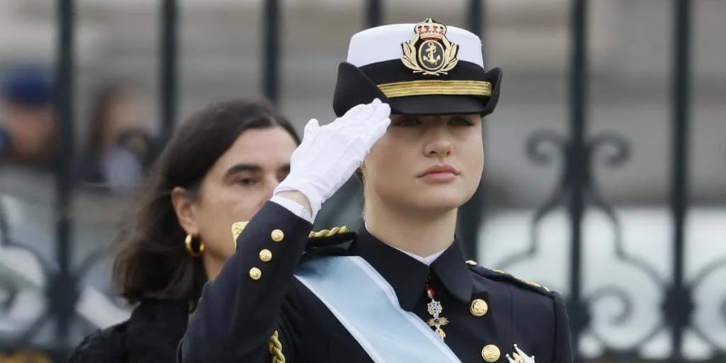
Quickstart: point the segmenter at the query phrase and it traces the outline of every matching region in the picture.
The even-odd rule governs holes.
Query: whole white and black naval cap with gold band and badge
[[[486,70],[481,39],[432,18],[383,25],[351,37],[338,65],[333,111],[381,99],[403,115],[489,115],[499,99],[499,68]]]

